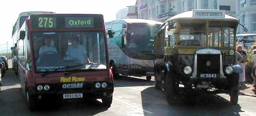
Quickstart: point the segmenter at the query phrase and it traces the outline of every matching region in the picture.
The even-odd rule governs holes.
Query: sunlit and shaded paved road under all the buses
[[[10,64],[10,63],[9,63]],[[256,98],[239,96],[237,105],[229,103],[229,95],[197,95],[195,104],[169,106],[163,92],[154,88],[154,81],[122,77],[114,81],[113,103],[102,107],[101,100],[79,101],[61,105],[41,104],[30,112],[20,89],[18,77],[7,70],[0,92],[0,116],[255,116]],[[56,107],[58,109],[56,109]]]

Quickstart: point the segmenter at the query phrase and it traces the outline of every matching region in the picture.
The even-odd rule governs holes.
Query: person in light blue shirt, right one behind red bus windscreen
[[[68,46],[67,52],[65,53],[64,60],[71,59],[79,64],[86,63],[84,60],[86,59],[87,51],[83,45],[79,44],[79,38],[73,37],[71,43],[72,45]]]

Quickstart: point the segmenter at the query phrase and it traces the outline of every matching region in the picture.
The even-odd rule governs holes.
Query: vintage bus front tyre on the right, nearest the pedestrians
[[[233,81],[231,85],[231,92],[230,92],[230,102],[233,105],[236,105],[238,102],[238,95],[240,91],[239,87],[239,74],[233,75]]]

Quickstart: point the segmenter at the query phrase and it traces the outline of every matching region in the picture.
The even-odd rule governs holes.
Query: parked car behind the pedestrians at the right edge
[[[236,35],[237,45],[243,45],[245,49],[251,49],[252,43],[256,41],[256,33],[244,33]]]

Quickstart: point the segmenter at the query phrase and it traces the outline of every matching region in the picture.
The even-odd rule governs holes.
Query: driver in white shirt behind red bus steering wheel
[[[39,49],[39,53],[38,53],[39,57],[44,54],[58,54],[57,49],[51,46],[51,43],[52,43],[51,38],[46,38],[44,42],[45,42],[45,45]]]

